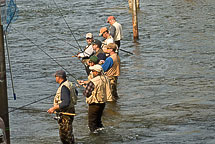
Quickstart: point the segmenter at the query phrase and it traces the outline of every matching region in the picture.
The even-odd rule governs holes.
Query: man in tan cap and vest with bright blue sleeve
[[[104,48],[104,52],[110,54],[110,56],[105,60],[105,63],[102,65],[102,68],[105,72],[105,75],[110,80],[111,93],[115,100],[117,100],[117,79],[120,76],[120,58],[119,55],[115,52],[117,45],[115,43],[110,43]]]

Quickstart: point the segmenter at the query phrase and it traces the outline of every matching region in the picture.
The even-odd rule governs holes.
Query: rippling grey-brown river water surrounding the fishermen
[[[114,15],[123,26],[121,48],[134,53],[120,52],[120,99],[107,105],[100,134],[89,133],[87,104],[83,89],[78,89],[76,143],[215,143],[214,0],[140,0],[136,43],[126,0],[55,2],[82,47],[85,34],[92,32],[100,39],[99,29]],[[17,5],[19,18],[8,34],[17,100],[7,65],[9,110],[56,92],[52,74],[61,67],[42,50],[76,78],[87,78],[83,65],[72,57],[77,48],[66,43],[77,46],[54,1],[19,0]],[[60,143],[54,115],[46,113],[52,101],[53,97],[10,113],[11,143]]]

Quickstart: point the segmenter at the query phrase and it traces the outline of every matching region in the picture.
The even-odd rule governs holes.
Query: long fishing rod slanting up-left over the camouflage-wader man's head
[[[42,48],[40,48],[38,45],[36,45],[31,39],[29,39],[27,36],[25,36],[23,33],[21,33],[20,31],[18,31],[16,28],[13,27],[13,29],[15,31],[17,31],[18,33],[20,33],[22,36],[24,36],[26,39],[28,39],[33,45],[35,45],[39,50],[41,50],[44,54],[46,54],[49,58],[51,58],[56,64],[58,64],[58,66],[60,66],[63,70],[65,70],[68,75],[72,76],[76,81],[78,80],[74,75],[72,75],[71,73],[69,73],[69,71],[64,68],[61,64],[59,64],[53,57],[51,57],[47,52],[45,52]]]

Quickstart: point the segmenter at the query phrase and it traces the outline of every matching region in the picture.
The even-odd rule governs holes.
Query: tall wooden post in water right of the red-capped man
[[[134,41],[139,39],[138,20],[137,20],[137,0],[132,0],[132,23],[133,23],[133,38]]]

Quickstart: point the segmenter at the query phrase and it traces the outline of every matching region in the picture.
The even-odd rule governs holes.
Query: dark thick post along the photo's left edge
[[[6,64],[5,64],[5,52],[4,52],[3,26],[1,24],[1,14],[0,14],[0,117],[3,119],[5,124],[7,144],[10,144]]]

